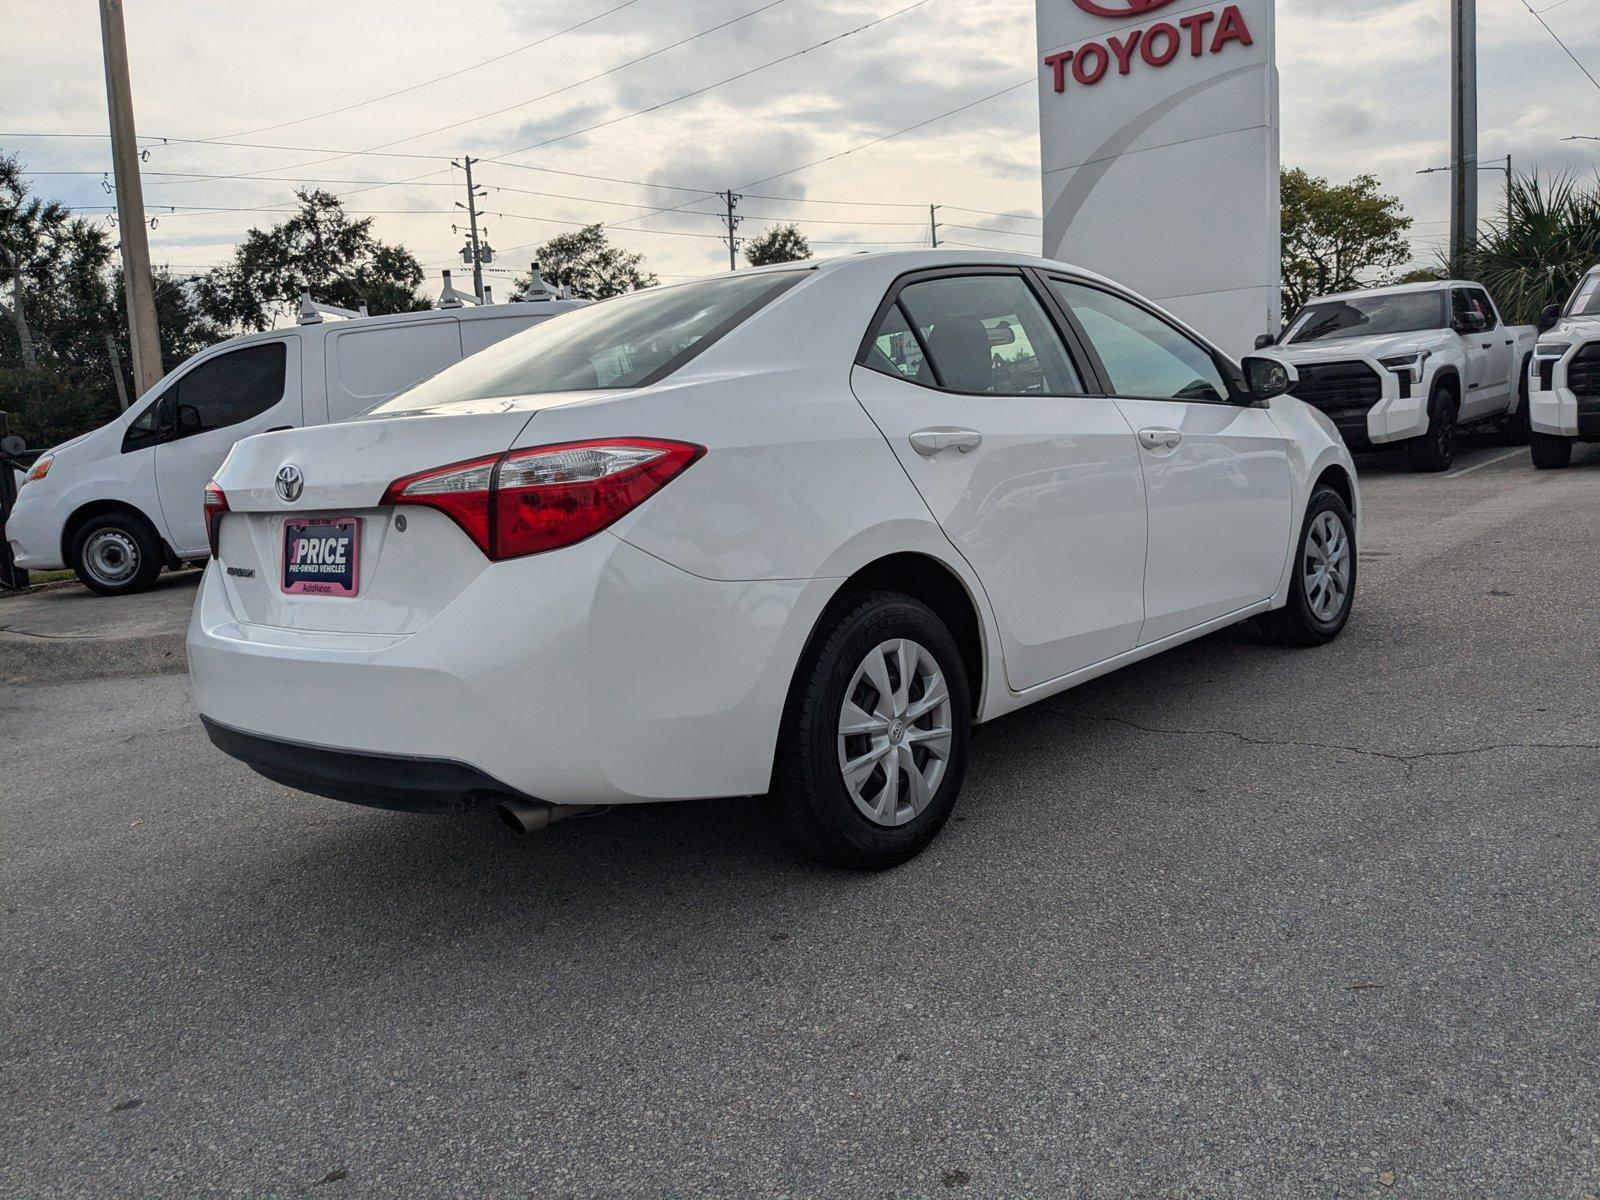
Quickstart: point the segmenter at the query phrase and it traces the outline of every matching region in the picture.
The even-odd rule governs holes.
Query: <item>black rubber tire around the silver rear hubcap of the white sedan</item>
[[[856,806],[840,770],[838,725],[845,691],[875,648],[894,638],[922,646],[938,666],[949,693],[949,752],[926,806],[906,824],[872,821]],[[862,682],[870,688],[870,683]],[[915,686],[907,688],[915,694]],[[898,592],[858,592],[837,600],[818,622],[784,707],[773,771],[771,808],[787,842],[806,858],[858,870],[885,870],[922,853],[955,808],[966,773],[971,694],[955,638],[920,600]],[[934,714],[923,718],[931,722]],[[896,722],[899,725],[899,722]],[[894,746],[914,726],[902,726]],[[939,728],[944,728],[942,725]],[[893,734],[885,734],[893,736]],[[910,746],[910,739],[904,738]],[[846,742],[846,747],[850,744]],[[918,750],[906,750],[915,755]],[[926,749],[920,750],[926,762]],[[899,752],[890,763],[899,771]],[[867,779],[882,778],[877,771]],[[909,787],[904,774],[896,776]],[[886,779],[878,787],[883,795]],[[899,792],[896,792],[899,795]],[[891,805],[893,806],[893,805]],[[907,805],[909,811],[910,805]]]

